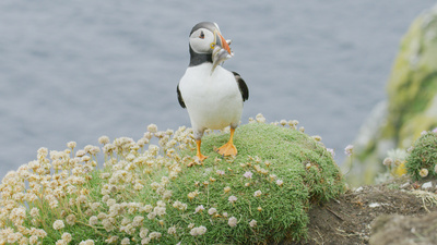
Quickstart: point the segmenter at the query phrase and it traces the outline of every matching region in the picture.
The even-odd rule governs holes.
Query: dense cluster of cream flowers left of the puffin
[[[138,142],[120,137],[110,143],[107,136],[102,136],[98,139],[102,150],[92,145],[76,149],[74,142],[69,142],[63,151],[38,149],[36,160],[9,172],[0,185],[0,209],[4,213],[0,216],[0,223],[2,226],[13,224],[0,231],[0,242],[40,244],[46,236],[71,231],[74,225],[125,234],[126,237],[109,235],[108,244],[130,244],[137,233],[142,244],[160,240],[162,231],[149,232],[145,220],[165,223],[167,204],[178,212],[188,209],[187,204],[170,201],[173,192],[168,185],[190,160],[180,155],[181,150],[193,148],[190,135],[190,128],[160,132],[151,124]],[[153,139],[158,146],[150,144]],[[101,151],[105,156],[103,170],[97,169]],[[162,168],[167,169],[168,175],[151,183],[149,176]],[[99,180],[98,187],[93,186],[93,180]],[[130,195],[144,195],[147,183],[152,191],[149,195],[154,198],[125,201]],[[151,203],[143,204],[144,200]],[[48,216],[47,210],[52,215]],[[46,225],[47,219],[52,219],[50,226]],[[176,228],[166,231],[173,235],[177,232]],[[94,244],[92,238],[81,240],[72,234],[63,232],[56,244],[73,241]]]

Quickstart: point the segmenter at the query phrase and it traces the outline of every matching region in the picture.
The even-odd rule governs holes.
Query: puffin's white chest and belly
[[[211,63],[188,68],[179,89],[194,130],[221,130],[237,126],[243,112],[243,98],[234,74]]]

